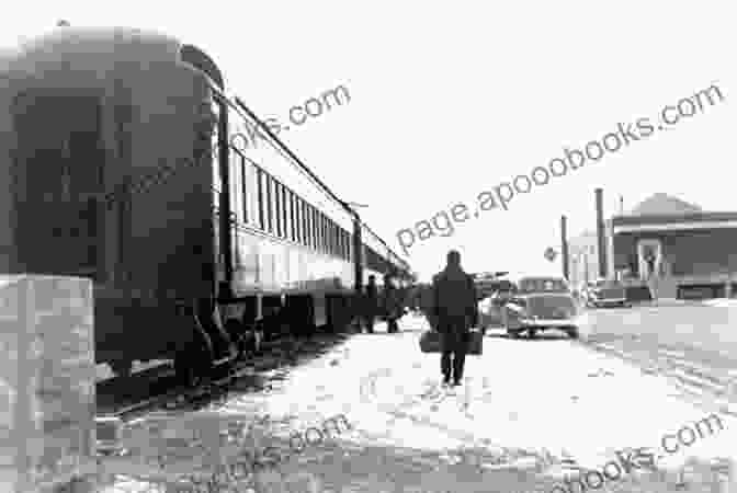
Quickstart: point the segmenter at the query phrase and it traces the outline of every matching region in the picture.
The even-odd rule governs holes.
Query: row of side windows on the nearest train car
[[[219,188],[216,180],[216,194]],[[344,229],[233,147],[230,199],[238,223],[322,253],[351,259],[351,236]]]

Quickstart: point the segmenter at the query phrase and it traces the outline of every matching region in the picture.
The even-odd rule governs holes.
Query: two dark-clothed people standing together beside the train
[[[381,318],[386,320],[386,331],[388,333],[399,332],[397,322],[405,314],[405,298],[404,290],[394,285],[389,274],[384,275],[384,286],[381,295],[378,286],[376,286],[376,276],[368,276],[368,283],[361,299],[363,329],[373,334],[376,319]]]

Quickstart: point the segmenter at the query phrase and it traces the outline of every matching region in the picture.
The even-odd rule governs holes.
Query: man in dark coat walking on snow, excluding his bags
[[[461,268],[461,254],[447,253],[445,270],[433,277],[433,308],[441,333],[443,383],[460,386],[468,349],[469,329],[478,323],[474,278]],[[451,355],[453,363],[451,365]]]

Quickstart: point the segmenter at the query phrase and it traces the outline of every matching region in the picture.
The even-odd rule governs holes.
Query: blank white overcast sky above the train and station
[[[0,44],[56,24],[155,28],[200,46],[263,118],[338,84],[351,93],[280,137],[396,251],[396,233],[501,181],[529,174],[662,106],[717,83],[725,101],[668,131],[418,240],[428,277],[445,252],[468,271],[558,274],[543,257],[605,214],[665,192],[707,210],[737,210],[732,103],[734,2],[327,2],[75,0],[13,2]]]

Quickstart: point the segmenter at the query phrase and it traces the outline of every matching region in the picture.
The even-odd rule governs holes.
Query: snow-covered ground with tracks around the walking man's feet
[[[667,324],[664,310],[648,321]],[[148,416],[126,434],[129,454],[106,460],[106,480],[127,473],[169,483],[158,491],[185,491],[174,488],[177,478],[206,475],[243,450],[271,448],[280,450],[272,454],[276,469],[243,477],[239,491],[554,492],[581,470],[599,491],[729,491],[715,489],[725,478],[714,472],[717,462],[737,459],[729,408],[710,404],[706,393],[695,402],[693,388],[687,392],[673,375],[642,368],[668,357],[698,366],[702,380],[714,372],[718,383],[737,365],[716,357],[710,364],[703,346],[657,346],[651,331],[633,339],[632,320],[622,330],[622,317],[632,313],[589,313],[596,331],[580,342],[553,333],[509,340],[491,330],[484,355],[467,357],[466,380],[454,391],[439,390],[439,355],[419,352],[424,320],[407,317],[399,334],[356,334],[305,365],[274,371],[271,391],[233,388],[225,405],[208,413]],[[648,355],[657,357],[648,363]],[[350,429],[325,439],[313,432],[303,450],[285,452],[290,437],[309,436],[307,428],[337,415]],[[229,438],[220,438],[226,431]],[[650,466],[634,460],[633,449],[651,454]],[[613,463],[622,473],[599,485],[602,470],[615,475]],[[135,484],[123,490],[117,478],[100,491],[156,491]]]

